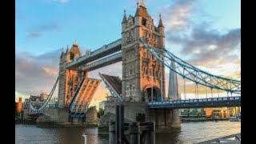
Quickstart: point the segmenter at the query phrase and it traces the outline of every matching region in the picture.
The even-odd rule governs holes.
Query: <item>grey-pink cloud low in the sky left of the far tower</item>
[[[58,76],[58,58],[61,50],[34,56],[15,54],[15,91],[29,96],[49,92]]]

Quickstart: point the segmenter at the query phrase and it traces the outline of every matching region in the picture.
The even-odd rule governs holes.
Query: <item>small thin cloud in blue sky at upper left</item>
[[[46,25],[38,26],[34,28],[34,30],[30,30],[30,32],[26,35],[26,38],[39,38],[42,36],[44,32],[60,32],[61,27],[56,22],[50,22]]]

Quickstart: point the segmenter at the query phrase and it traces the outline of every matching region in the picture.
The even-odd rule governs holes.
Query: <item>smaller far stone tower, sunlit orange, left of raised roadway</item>
[[[58,106],[61,108],[68,106],[79,81],[78,70],[68,70],[66,69],[66,64],[79,57],[81,57],[81,52],[76,42],[74,42],[70,50],[66,48],[66,53],[62,52],[60,56]]]

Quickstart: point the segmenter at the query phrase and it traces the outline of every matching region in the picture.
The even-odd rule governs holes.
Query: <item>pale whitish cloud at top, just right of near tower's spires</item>
[[[195,0],[174,0],[162,9],[166,31],[181,31],[190,26],[190,15],[194,10]]]

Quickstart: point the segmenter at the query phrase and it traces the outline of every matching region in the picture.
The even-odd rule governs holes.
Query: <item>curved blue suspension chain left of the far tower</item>
[[[29,111],[29,114],[42,114],[42,110],[44,110],[48,104],[48,102],[50,102],[50,98],[52,98],[53,94],[54,94],[54,90],[57,86],[57,83],[58,83],[58,78],[56,79],[55,83],[54,83],[54,87],[53,89],[50,91],[50,94],[49,96],[47,97],[46,99],[46,102],[39,107],[39,109],[36,109],[30,102],[30,111]]]

